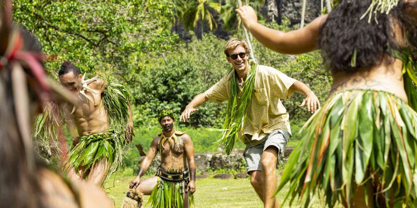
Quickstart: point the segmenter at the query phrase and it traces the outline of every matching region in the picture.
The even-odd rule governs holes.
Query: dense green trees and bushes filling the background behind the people
[[[134,122],[138,132],[134,143],[140,142],[147,149],[151,139],[160,131],[155,119],[160,109],[172,108],[179,118],[194,96],[211,87],[230,69],[223,54],[226,40],[211,32],[205,33],[201,40],[191,30],[192,39],[185,42],[169,30],[181,22],[189,24],[186,15],[197,12],[196,5],[200,4],[206,7],[205,12],[211,13],[211,21],[226,22],[224,27],[233,32],[231,37],[244,38],[234,12],[236,0],[225,1],[221,9],[219,2],[19,0],[13,2],[13,19],[38,38],[45,54],[58,55],[57,60],[45,64],[52,79],[57,78],[60,64],[67,60],[74,62],[81,72],[87,72],[87,77],[102,74],[108,68],[120,71],[121,84],[127,85],[136,100]],[[249,0],[249,3],[257,11],[263,4],[261,0]],[[198,27],[200,21],[207,20],[200,16],[191,25]],[[285,18],[281,25],[266,25],[290,30]],[[266,49],[255,39],[252,46],[259,64],[274,67],[304,82],[321,102],[325,101],[332,80],[322,69],[319,52],[282,55]],[[311,115],[305,107],[298,107],[303,99],[303,95],[295,93],[289,101],[284,101],[294,134]],[[217,150],[217,145],[211,143],[220,139],[221,132],[210,132],[205,128],[221,127],[226,103],[207,102],[192,114],[188,124],[176,121],[176,125],[196,141],[197,152]],[[296,136],[291,140],[296,141]],[[240,143],[237,147],[243,148]]]

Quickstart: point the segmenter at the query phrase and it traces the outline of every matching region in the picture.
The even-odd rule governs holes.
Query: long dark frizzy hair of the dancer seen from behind
[[[339,5],[330,12],[324,22],[319,36],[319,46],[322,49],[324,64],[330,67],[333,74],[338,72],[357,72],[359,69],[369,69],[378,66],[384,57],[391,57],[392,51],[406,47],[397,42],[393,27],[405,31],[407,46],[417,48],[417,28],[404,13],[406,5],[401,0],[389,14],[372,14],[362,20],[372,0],[340,0]],[[377,21],[375,21],[375,18]],[[351,64],[356,50],[356,65]],[[415,51],[415,50],[414,50]]]

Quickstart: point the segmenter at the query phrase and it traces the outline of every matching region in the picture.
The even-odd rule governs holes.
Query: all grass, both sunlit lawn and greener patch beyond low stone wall
[[[294,132],[298,132],[300,126],[292,126]],[[193,140],[195,150],[197,153],[203,153],[206,151],[216,152],[218,151],[218,145],[212,144],[218,138],[221,137],[219,131],[208,131],[204,128],[189,128],[185,127],[181,129],[186,131]],[[132,142],[132,151],[129,153],[127,165],[132,166],[136,163],[138,150],[133,144],[141,144],[145,150],[149,149],[152,138],[156,136],[155,132],[160,131],[160,126],[149,125],[137,129],[136,137]],[[287,146],[295,146],[299,141],[297,136],[291,137]],[[236,149],[244,149],[244,144],[238,142]],[[279,171],[277,171],[279,172]],[[135,177],[136,173],[133,173],[132,168],[126,168],[126,171],[116,177],[112,177],[106,182],[106,190],[114,200],[116,208],[121,207],[126,191],[128,190],[128,184]],[[150,175],[148,177],[151,177]],[[143,179],[148,178],[146,176]],[[278,175],[278,181],[280,176]],[[110,187],[110,188],[109,188]],[[285,186],[284,189],[277,195],[279,203],[284,201],[289,186]],[[148,201],[149,196],[144,197],[145,204]],[[146,206],[149,207],[149,206]],[[196,208],[261,208],[263,203],[256,195],[254,189],[251,186],[249,178],[246,179],[216,179],[216,178],[204,178],[196,181],[196,193],[195,193],[195,207]],[[287,203],[284,207],[289,207]],[[291,207],[298,207],[296,202]],[[323,208],[319,199],[314,201],[313,208]],[[340,206],[336,206],[340,208]]]

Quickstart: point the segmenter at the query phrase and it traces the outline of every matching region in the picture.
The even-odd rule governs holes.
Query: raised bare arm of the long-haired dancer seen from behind
[[[322,15],[302,29],[281,32],[259,24],[258,17],[250,6],[240,7],[236,12],[256,40],[267,48],[282,54],[301,54],[317,50],[319,48],[317,39],[323,23],[327,19],[327,15]]]

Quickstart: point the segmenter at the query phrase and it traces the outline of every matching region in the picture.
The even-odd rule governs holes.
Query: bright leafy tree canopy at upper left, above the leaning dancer
[[[118,67],[131,73],[149,55],[175,46],[177,36],[166,30],[173,18],[167,2],[19,0],[13,18],[33,32],[46,54],[58,55],[46,64],[51,72],[70,60],[82,72]]]

